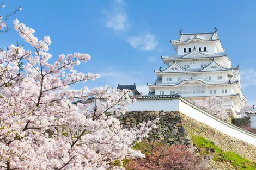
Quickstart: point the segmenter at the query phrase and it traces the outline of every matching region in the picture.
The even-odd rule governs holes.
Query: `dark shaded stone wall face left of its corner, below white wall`
[[[139,123],[153,121],[159,118],[157,129],[149,132],[149,141],[160,140],[170,144],[191,144],[192,140],[182,123],[181,114],[178,111],[132,111],[120,117],[124,127],[137,127]]]

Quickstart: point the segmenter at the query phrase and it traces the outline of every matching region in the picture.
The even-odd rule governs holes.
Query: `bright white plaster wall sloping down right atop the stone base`
[[[229,136],[235,137],[245,142],[254,144],[256,146],[256,136],[252,137],[245,133],[242,133],[242,131],[238,130],[239,128],[236,128],[234,125],[221,121],[220,119],[217,119],[214,116],[205,115],[202,112],[192,108],[191,106],[185,104],[180,100],[179,100],[179,111],[189,117],[192,117],[193,119],[196,119],[199,122],[205,123],[210,127],[221,131],[224,134],[227,134]]]

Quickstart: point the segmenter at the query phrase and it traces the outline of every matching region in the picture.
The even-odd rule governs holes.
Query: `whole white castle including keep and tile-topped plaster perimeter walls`
[[[147,84],[151,90],[148,95],[139,93],[136,84],[118,84],[117,89],[131,90],[129,95],[137,100],[127,105],[130,112],[139,113],[135,115],[137,116],[135,121],[141,121],[142,112],[146,112],[146,115],[154,111],[161,111],[163,114],[164,111],[180,112],[221,133],[256,146],[255,134],[223,121],[193,104],[194,99],[224,96],[229,97],[224,103],[225,107],[233,110],[234,113],[239,112],[240,108],[246,105],[246,97],[241,90],[239,66],[232,67],[228,55],[223,54],[224,49],[217,29],[215,32],[192,34],[184,34],[180,30],[179,39],[170,42],[177,54],[162,56],[167,68],[162,70],[160,67],[159,71],[155,71],[157,80],[154,84]],[[90,97],[73,104],[90,104],[89,111],[93,112],[96,106],[95,100],[102,103],[106,101],[105,98]],[[254,110],[251,112],[254,114]]]

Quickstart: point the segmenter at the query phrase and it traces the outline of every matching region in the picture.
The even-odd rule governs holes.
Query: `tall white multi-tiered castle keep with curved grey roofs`
[[[176,55],[162,56],[167,68],[154,71],[157,80],[147,84],[149,95],[173,95],[178,93],[188,100],[209,96],[225,96],[230,100],[225,107],[240,111],[246,97],[241,90],[239,65],[231,66],[218,37],[217,29],[211,33],[184,34],[179,40],[171,40]]]

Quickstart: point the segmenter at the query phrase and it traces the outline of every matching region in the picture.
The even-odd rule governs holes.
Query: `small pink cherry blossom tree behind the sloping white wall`
[[[226,121],[227,117],[231,115],[231,112],[225,110],[224,107],[224,102],[228,99],[228,97],[211,96],[203,100],[194,100],[193,103],[199,106],[199,108]]]

